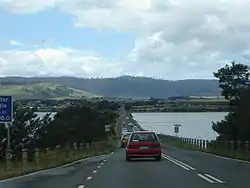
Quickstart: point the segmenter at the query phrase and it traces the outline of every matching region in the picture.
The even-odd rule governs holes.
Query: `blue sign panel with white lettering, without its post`
[[[13,119],[12,96],[0,96],[0,123],[11,123]]]

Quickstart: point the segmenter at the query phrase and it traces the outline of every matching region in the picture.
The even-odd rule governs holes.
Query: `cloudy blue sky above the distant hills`
[[[0,76],[213,78],[249,64],[250,0],[0,0]]]

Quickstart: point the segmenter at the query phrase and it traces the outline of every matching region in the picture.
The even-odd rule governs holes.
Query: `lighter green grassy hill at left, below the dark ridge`
[[[92,93],[73,89],[67,86],[54,83],[29,83],[0,85],[0,95],[12,95],[15,100],[20,99],[65,99],[96,97]]]

